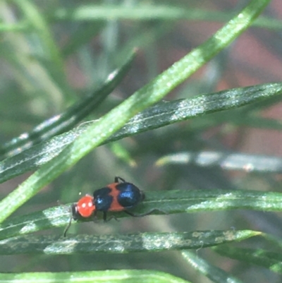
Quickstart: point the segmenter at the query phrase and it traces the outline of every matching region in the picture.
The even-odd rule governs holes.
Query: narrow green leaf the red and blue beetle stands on
[[[161,193],[158,191],[148,191],[146,192],[145,200],[135,208],[134,212],[143,214],[154,210],[152,214],[161,215],[237,209],[282,211],[282,193],[239,190],[190,191],[185,189],[180,191],[161,191]],[[114,215],[117,218],[128,217],[124,212],[115,212]],[[102,213],[97,216],[102,221]],[[52,227],[66,226],[70,217],[67,205],[51,207],[30,215],[13,217],[1,224],[0,239]],[[83,219],[83,221],[92,222],[92,218]]]

